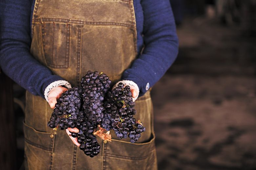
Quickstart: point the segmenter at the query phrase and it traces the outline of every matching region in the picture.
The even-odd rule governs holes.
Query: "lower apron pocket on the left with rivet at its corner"
[[[25,168],[51,169],[54,134],[40,132],[23,122],[25,137]]]

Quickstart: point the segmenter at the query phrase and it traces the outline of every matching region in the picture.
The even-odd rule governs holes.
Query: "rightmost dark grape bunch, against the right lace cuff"
[[[139,140],[141,133],[145,131],[140,121],[136,121],[135,102],[132,100],[130,86],[119,83],[112,92],[108,92],[104,102],[104,117],[101,127],[106,130],[113,129],[117,138],[130,138],[131,143]]]

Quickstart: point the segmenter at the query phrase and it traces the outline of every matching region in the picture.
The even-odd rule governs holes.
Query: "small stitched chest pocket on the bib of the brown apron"
[[[68,68],[70,25],[43,22],[42,38],[46,65],[52,68]]]

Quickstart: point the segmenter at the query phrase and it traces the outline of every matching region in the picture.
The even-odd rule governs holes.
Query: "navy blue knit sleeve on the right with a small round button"
[[[178,54],[178,37],[169,0],[141,0],[144,15],[144,50],[124,71],[143,95],[172,65]]]

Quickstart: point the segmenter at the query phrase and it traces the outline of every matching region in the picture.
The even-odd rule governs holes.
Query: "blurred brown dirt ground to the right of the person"
[[[152,89],[160,170],[256,169],[255,37],[203,17]]]

